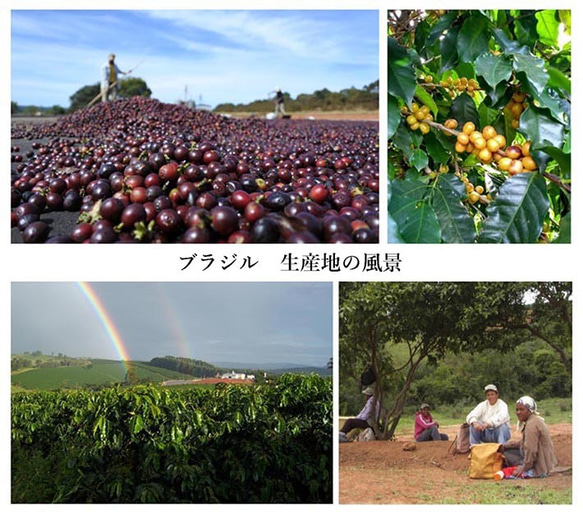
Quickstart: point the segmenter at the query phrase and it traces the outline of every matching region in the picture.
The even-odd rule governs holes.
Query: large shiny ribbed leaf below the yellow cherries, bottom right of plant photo
[[[487,208],[479,241],[534,243],[549,209],[546,182],[541,174],[522,173],[508,178]]]

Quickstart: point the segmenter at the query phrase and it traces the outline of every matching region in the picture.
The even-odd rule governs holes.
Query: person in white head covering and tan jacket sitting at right
[[[516,416],[522,439],[508,441],[504,449],[520,447],[522,465],[502,469],[499,478],[546,477],[557,466],[555,448],[549,428],[539,415],[532,397],[524,396],[516,401]],[[500,473],[499,473],[500,474]]]

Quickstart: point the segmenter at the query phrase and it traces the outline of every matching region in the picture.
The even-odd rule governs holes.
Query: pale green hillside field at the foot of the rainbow
[[[188,375],[149,366],[140,362],[129,362],[136,378],[144,382],[162,382],[169,379],[189,379]],[[17,388],[50,390],[58,388],[80,388],[124,382],[126,370],[121,361],[92,359],[89,366],[64,366],[58,368],[36,368],[12,375],[12,384]]]

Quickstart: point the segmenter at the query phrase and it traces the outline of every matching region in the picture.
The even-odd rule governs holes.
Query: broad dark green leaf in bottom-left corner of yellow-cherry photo
[[[389,203],[389,213],[397,224],[401,237],[408,243],[439,243],[441,230],[435,211],[427,200],[418,195],[425,193],[427,186],[422,182],[393,181],[393,193]]]

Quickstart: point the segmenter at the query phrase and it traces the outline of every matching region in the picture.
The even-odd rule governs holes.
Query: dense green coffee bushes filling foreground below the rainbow
[[[27,392],[13,503],[330,503],[332,383]]]

